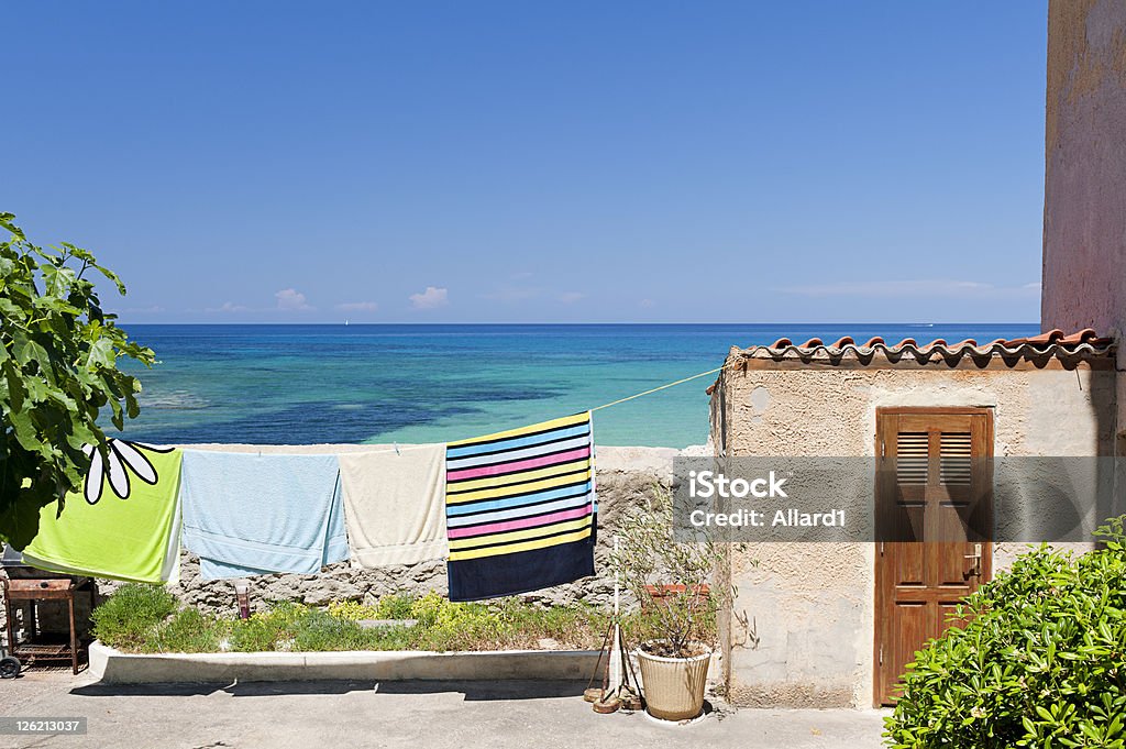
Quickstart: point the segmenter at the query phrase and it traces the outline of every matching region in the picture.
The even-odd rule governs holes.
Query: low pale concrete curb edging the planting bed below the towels
[[[100,642],[90,645],[90,675],[105,684],[367,679],[583,680],[593,674],[597,660],[597,650],[133,654],[123,653]]]

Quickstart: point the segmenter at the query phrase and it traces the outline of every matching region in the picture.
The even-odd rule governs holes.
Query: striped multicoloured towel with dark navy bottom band
[[[587,411],[446,446],[450,600],[595,573],[593,444]]]

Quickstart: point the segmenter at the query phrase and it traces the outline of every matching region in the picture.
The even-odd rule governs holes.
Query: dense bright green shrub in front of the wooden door
[[[1120,530],[1120,526],[1119,526]],[[1126,550],[1040,546],[915,653],[887,719],[894,747],[1126,746]]]

